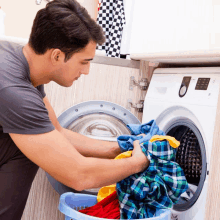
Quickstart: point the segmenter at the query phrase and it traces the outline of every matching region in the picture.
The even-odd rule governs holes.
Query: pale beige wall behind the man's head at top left
[[[96,17],[97,0],[78,0],[90,13]],[[32,23],[38,10],[46,6],[46,1],[42,0],[40,5],[35,0],[1,0],[0,6],[6,13],[5,35],[21,38],[29,38]]]

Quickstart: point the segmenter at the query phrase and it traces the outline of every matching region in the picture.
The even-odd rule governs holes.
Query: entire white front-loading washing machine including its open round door
[[[202,220],[208,188],[220,68],[158,68],[144,101],[142,123],[156,120],[160,130],[180,141],[176,162],[182,167],[189,189],[172,208],[172,220]],[[141,122],[127,109],[106,101],[89,101],[62,113],[60,124],[91,138],[116,141],[130,134],[127,124]],[[47,174],[61,195],[78,192]],[[98,193],[99,188],[80,191]]]

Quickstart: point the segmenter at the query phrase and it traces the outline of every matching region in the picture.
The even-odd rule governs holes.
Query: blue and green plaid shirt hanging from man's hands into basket
[[[146,141],[141,148],[150,160],[149,167],[116,184],[121,219],[155,217],[156,209],[172,208],[188,189],[183,170],[175,162],[177,150],[167,140]]]

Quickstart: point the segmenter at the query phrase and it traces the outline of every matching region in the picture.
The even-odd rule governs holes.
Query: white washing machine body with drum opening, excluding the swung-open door
[[[189,189],[172,209],[172,219],[203,220],[209,181],[220,68],[158,68],[144,103],[142,123],[155,119],[180,141],[176,162]]]

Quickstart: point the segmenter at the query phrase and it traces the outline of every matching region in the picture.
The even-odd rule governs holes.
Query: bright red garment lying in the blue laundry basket
[[[99,218],[120,219],[117,192],[113,192],[96,205],[79,210],[79,212]]]

